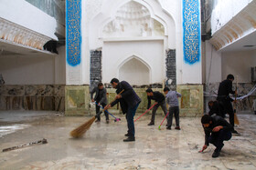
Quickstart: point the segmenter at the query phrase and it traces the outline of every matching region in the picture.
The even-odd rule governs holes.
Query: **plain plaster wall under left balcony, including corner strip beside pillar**
[[[59,55],[1,55],[0,74],[5,85],[65,85],[65,47]]]

